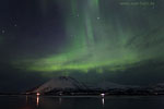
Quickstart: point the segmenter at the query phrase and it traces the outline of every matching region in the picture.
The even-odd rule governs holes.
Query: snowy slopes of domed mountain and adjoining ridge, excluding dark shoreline
[[[128,89],[139,88],[139,86],[121,85],[110,82],[99,82],[97,85],[82,84],[69,76],[55,77],[45,84],[33,89],[31,93],[49,93],[54,90],[108,90],[108,89]]]

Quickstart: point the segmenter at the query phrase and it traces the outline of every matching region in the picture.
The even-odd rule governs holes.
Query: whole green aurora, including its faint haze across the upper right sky
[[[43,13],[52,2],[67,10],[62,12],[66,45],[46,57],[16,60],[16,68],[43,73],[103,73],[148,60],[163,61],[164,51],[157,53],[164,47],[162,9],[120,5],[120,0],[42,0]]]

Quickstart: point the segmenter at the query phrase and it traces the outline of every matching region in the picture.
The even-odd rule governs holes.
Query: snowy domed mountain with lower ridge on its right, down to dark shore
[[[130,89],[130,90],[129,90]],[[83,84],[72,78],[70,76],[59,76],[46,82],[45,84],[27,92],[28,94],[95,94],[101,92],[108,92],[113,94],[119,94],[120,92],[128,94],[126,92],[137,93],[140,92],[142,87],[120,85],[110,82],[99,82],[96,85]]]

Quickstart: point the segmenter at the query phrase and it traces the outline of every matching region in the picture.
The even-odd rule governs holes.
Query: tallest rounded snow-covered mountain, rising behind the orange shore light
[[[52,90],[68,90],[68,89],[71,90],[86,89],[86,86],[72,77],[59,76],[38,86],[31,93],[49,93]]]

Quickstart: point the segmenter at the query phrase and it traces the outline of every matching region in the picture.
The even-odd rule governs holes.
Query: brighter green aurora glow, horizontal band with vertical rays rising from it
[[[155,50],[164,45],[152,44],[154,38],[151,37],[154,34],[144,39],[149,32],[142,34],[142,31],[136,27],[138,23],[133,22],[136,16],[131,10],[121,9],[125,16],[107,10],[104,14],[99,2],[99,0],[84,0],[83,2],[71,0],[70,5],[68,4],[70,10],[66,13],[67,47],[63,47],[61,52],[48,57],[25,59],[27,61],[21,61],[23,65],[20,68],[39,72],[73,70],[84,73],[94,69],[97,73],[103,73],[104,69],[107,71],[126,70],[134,63],[159,57]],[[133,9],[133,12],[136,10]],[[136,14],[139,15],[140,11]],[[124,24],[125,17],[128,17],[129,24]],[[148,25],[155,23],[149,16],[144,17],[150,21]],[[132,26],[134,24],[136,26]],[[154,28],[149,28],[149,31]],[[163,33],[155,33],[157,36]],[[143,46],[149,43],[150,47],[144,48]]]

